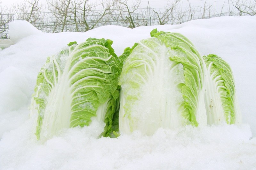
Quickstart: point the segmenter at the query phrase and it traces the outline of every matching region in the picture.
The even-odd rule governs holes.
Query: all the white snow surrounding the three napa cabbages
[[[15,42],[0,51],[0,169],[253,169],[256,167],[256,17],[219,17],[181,25],[135,29],[103,26],[85,33],[41,33],[29,24],[10,26]],[[184,34],[201,55],[216,54],[233,69],[243,124],[139,131],[99,138],[104,123],[62,129],[45,143],[36,141],[28,106],[37,73],[46,58],[71,41],[108,38],[124,48],[150,31]]]

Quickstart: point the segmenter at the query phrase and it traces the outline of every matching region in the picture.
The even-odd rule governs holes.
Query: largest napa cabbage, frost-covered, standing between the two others
[[[121,133],[206,125],[206,65],[191,41],[155,29],[126,53],[119,80]]]

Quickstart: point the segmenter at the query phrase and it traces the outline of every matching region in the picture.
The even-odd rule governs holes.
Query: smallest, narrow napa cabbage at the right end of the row
[[[235,80],[230,65],[219,56],[203,56],[207,67],[205,108],[208,124],[241,124]]]

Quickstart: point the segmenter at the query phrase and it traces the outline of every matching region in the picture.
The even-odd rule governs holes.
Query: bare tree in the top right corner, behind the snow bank
[[[256,0],[232,0],[231,2],[238,10],[239,16],[256,15]]]

